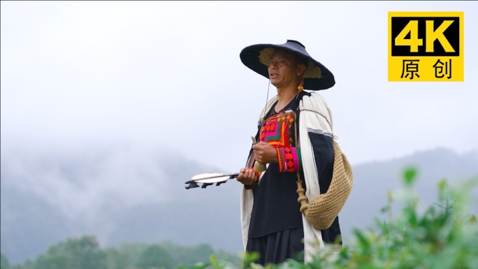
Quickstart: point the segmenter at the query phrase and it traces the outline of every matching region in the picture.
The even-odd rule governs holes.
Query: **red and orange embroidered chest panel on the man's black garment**
[[[261,141],[277,148],[292,147],[294,145],[295,121],[295,112],[279,113],[268,117],[260,131]]]

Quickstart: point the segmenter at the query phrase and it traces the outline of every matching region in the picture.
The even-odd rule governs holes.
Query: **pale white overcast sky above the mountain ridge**
[[[387,12],[406,10],[465,12],[465,82],[387,82]],[[166,147],[236,171],[268,85],[239,53],[287,39],[335,75],[319,93],[352,164],[477,150],[477,18],[472,1],[2,1],[1,151]]]

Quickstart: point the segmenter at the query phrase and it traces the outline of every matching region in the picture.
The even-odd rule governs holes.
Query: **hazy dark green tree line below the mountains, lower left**
[[[173,242],[161,244],[124,243],[102,249],[93,235],[67,238],[50,245],[46,253],[22,264],[10,264],[1,253],[1,269],[173,269],[187,264],[207,263],[210,255],[229,261],[238,257],[224,251],[215,252],[208,244],[184,247]]]

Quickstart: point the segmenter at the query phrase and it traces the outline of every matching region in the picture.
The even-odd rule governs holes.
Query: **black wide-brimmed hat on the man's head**
[[[269,60],[275,50],[289,50],[299,57],[307,59],[305,65],[304,89],[318,91],[319,89],[328,89],[335,85],[333,74],[319,61],[314,60],[305,51],[305,46],[298,41],[287,40],[286,43],[280,45],[274,44],[257,44],[250,45],[240,52],[240,60],[242,64],[251,68],[256,73],[269,78],[268,65]]]

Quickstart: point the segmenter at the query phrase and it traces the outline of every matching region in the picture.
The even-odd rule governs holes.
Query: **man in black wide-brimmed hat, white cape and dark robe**
[[[310,260],[317,248],[339,237],[340,228],[338,217],[320,230],[303,215],[305,196],[310,201],[328,190],[334,163],[331,110],[322,96],[303,89],[333,87],[333,74],[298,41],[251,45],[240,52],[240,59],[277,88],[277,96],[259,116],[255,137],[259,143],[252,147],[247,168],[238,176],[244,184],[245,250],[259,252],[257,263],[263,265],[281,263],[303,250],[305,260]],[[262,173],[257,171],[262,170],[257,168],[259,163],[267,165]],[[298,199],[300,193],[303,198]]]

